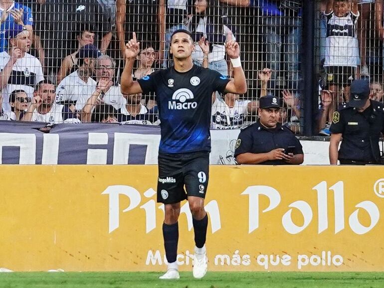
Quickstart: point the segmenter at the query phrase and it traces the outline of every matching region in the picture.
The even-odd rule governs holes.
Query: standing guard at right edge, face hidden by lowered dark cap
[[[329,144],[331,164],[336,165],[338,159],[340,164],[380,164],[379,138],[384,132],[384,105],[370,100],[369,94],[368,81],[353,81],[350,101],[333,114]]]

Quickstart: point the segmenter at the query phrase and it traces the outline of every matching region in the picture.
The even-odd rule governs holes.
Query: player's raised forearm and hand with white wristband
[[[225,50],[231,59],[233,67],[233,80],[225,86],[226,93],[244,94],[247,92],[247,81],[240,62],[240,49],[236,41],[229,40],[225,43]]]

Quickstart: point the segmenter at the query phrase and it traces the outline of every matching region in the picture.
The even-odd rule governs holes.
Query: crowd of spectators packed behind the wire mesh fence
[[[300,134],[301,103],[319,103],[318,133],[349,100],[350,83],[371,82],[383,101],[383,0],[317,0],[318,93],[303,95],[303,0],[0,0],[0,120],[158,125],[155,95],[123,95],[126,41],[141,52],[133,76],[170,66],[173,31],[191,31],[193,63],[231,77],[226,40],[240,43],[249,91],[212,95],[212,129],[257,119],[258,99],[283,100],[280,122]],[[315,81],[315,79],[313,79]],[[315,92],[315,91],[314,91]],[[317,132],[316,132],[317,133]]]

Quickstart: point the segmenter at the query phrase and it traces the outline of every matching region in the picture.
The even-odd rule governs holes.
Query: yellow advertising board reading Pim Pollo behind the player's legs
[[[0,166],[0,267],[165,270],[155,165]],[[210,166],[210,271],[384,271],[380,166]],[[191,270],[182,203],[180,269]]]

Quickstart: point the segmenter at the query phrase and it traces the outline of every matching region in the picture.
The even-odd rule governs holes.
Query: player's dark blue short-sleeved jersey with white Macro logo
[[[229,82],[220,73],[193,65],[188,72],[174,67],[138,80],[143,93],[156,93],[161,126],[160,153],[210,151],[212,93]]]

